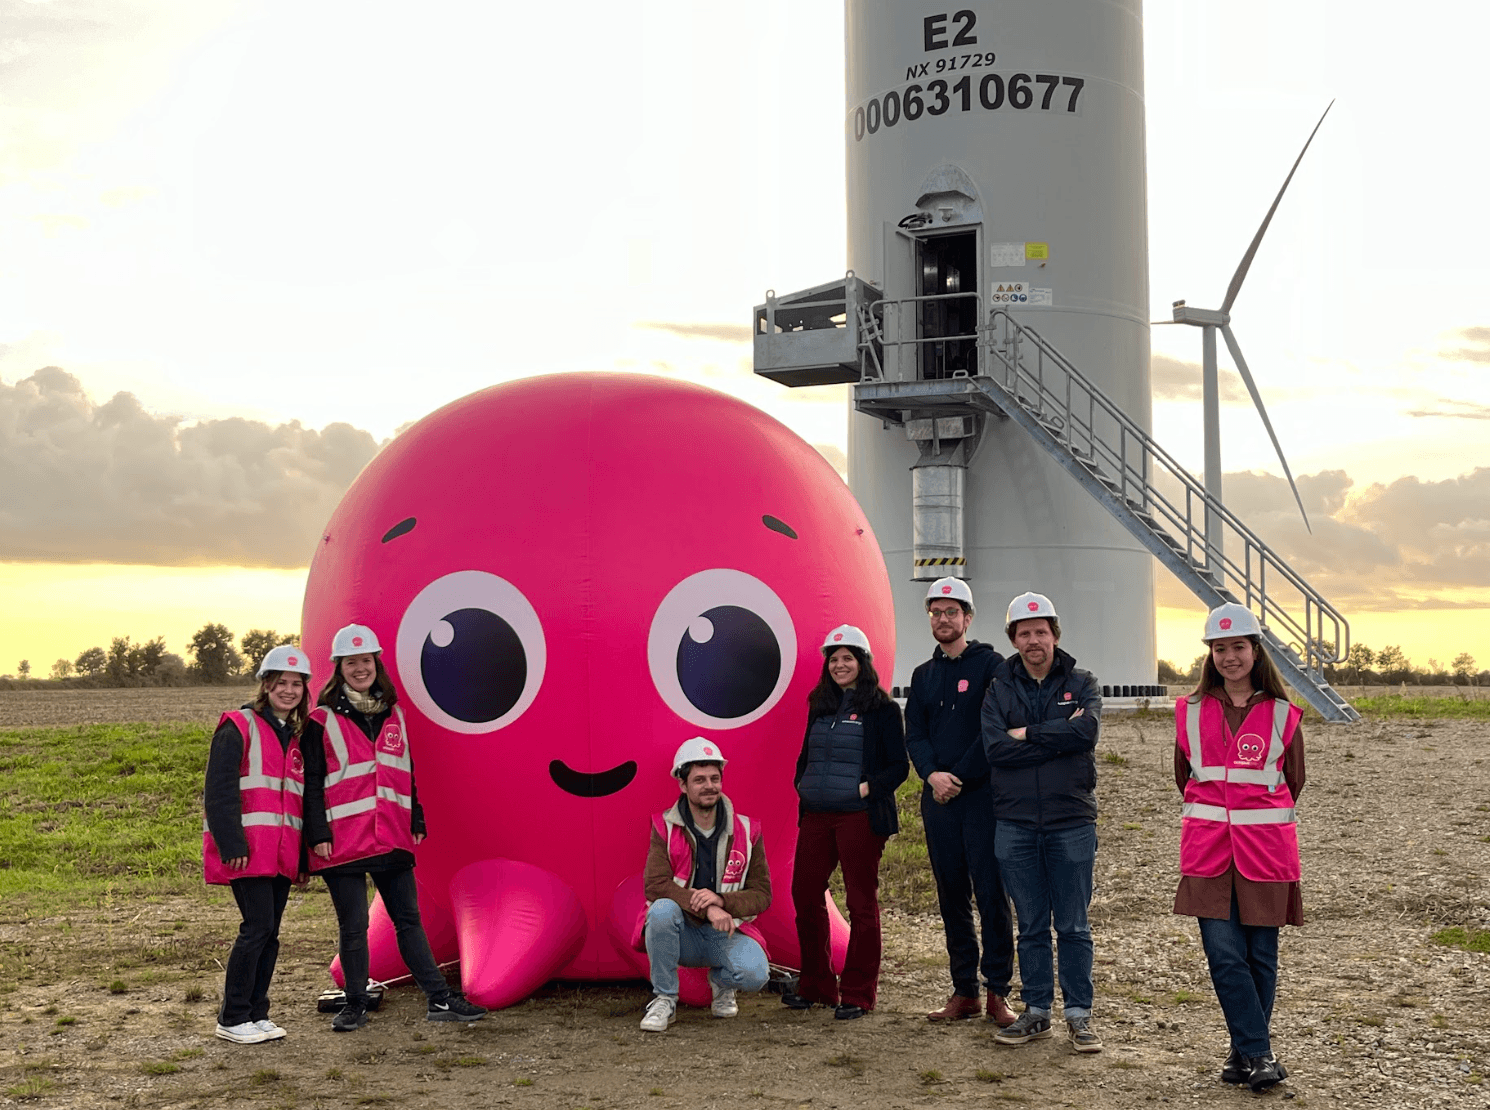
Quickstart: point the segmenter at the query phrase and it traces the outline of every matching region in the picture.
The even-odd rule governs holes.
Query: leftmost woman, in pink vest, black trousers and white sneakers
[[[243,924],[228,954],[218,1036],[235,1044],[279,1040],[270,1021],[270,979],[291,882],[307,881],[301,843],[301,791],[310,667],[297,647],[279,647],[259,665],[252,703],[218,721],[203,787],[201,861],[209,884],[232,887]]]

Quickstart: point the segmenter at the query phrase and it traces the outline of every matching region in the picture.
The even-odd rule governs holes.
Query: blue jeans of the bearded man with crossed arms
[[[1061,1003],[1065,1019],[1092,1015],[1092,900],[1097,825],[1040,831],[1000,821],[994,837],[998,873],[1019,918],[1021,998],[1049,1015],[1055,1003],[1050,925],[1061,954]]]

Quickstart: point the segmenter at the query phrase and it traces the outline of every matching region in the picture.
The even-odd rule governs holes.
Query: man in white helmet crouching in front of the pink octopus
[[[682,796],[653,818],[645,939],[657,997],[642,1018],[648,1033],[678,1019],[679,967],[709,968],[715,1018],[738,1015],[735,992],[758,991],[770,974],[764,949],[739,931],[770,906],[770,869],[760,825],[724,796],[726,763],[714,740],[685,740],[672,758]]]

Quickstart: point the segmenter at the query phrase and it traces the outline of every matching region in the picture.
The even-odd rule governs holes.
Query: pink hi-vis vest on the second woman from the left
[[[311,852],[310,869],[322,872],[402,848],[414,851],[414,764],[408,729],[396,705],[383,721],[377,742],[355,724],[344,726],[326,706],[310,720],[326,730],[326,822],[331,858]]]

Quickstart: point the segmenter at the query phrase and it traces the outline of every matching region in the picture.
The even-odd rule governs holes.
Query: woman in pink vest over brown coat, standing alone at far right
[[[1269,1025],[1278,928],[1304,924],[1295,803],[1304,790],[1302,711],[1289,703],[1262,627],[1226,603],[1205,618],[1201,681],[1174,705],[1180,889],[1199,919],[1231,1053],[1222,1082],[1262,1091],[1287,1077]]]

